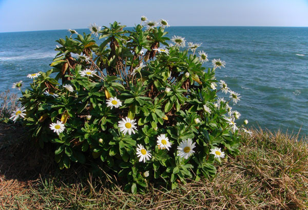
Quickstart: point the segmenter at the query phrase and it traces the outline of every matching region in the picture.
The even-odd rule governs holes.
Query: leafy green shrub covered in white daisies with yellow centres
[[[57,40],[53,68],[28,75],[24,107],[12,113],[41,146],[56,145],[60,168],[96,159],[133,193],[149,180],[175,188],[185,178],[214,176],[214,162],[237,154],[240,141],[240,113],[229,106],[239,94],[216,84],[215,70],[225,62],[214,59],[206,69],[207,54],[196,55],[200,44],[185,49],[180,36],[171,44],[167,21],[145,21],[132,31],[117,22],[91,25],[101,44],[70,29],[70,37]],[[219,91],[229,101],[218,99]]]

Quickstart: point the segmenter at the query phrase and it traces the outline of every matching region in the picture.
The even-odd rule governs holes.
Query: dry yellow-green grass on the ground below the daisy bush
[[[132,195],[84,166],[57,170],[48,148],[25,141],[23,127],[0,124],[0,209],[308,209],[305,141],[252,131],[212,180],[188,180],[176,190],[150,185]]]

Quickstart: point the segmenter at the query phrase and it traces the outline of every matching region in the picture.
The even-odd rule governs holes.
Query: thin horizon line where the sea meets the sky
[[[127,28],[133,28],[134,26],[125,26]],[[276,28],[308,28],[308,26],[169,26],[170,27],[276,27]],[[82,30],[88,28],[73,28],[74,30]],[[49,29],[49,30],[30,30],[30,31],[0,31],[0,33],[18,33],[18,32],[35,32],[35,31],[61,31],[68,29]]]

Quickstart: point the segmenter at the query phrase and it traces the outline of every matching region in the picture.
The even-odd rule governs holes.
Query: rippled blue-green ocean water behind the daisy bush
[[[167,31],[169,37],[185,37],[186,43],[202,43],[198,50],[208,53],[210,61],[226,62],[216,77],[241,94],[241,101],[232,105],[242,114],[238,124],[247,119],[248,127],[308,135],[308,28],[169,27]],[[55,40],[65,35],[69,35],[66,30],[0,33],[0,92],[20,80],[27,86],[31,82],[27,74],[50,69]],[[204,66],[211,67],[210,61]]]

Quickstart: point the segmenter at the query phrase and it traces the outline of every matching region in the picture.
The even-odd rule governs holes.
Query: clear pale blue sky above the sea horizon
[[[308,27],[308,0],[0,0],[0,32],[134,26],[142,15],[171,26]]]

